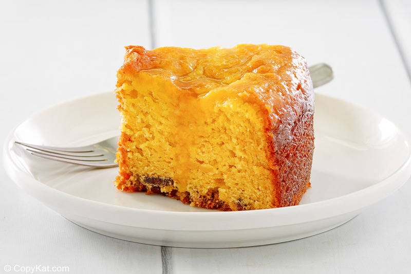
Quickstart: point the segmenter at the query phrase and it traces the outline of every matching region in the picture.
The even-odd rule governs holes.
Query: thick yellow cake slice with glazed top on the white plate
[[[314,94],[285,46],[127,46],[115,185],[209,209],[297,205],[310,187]]]

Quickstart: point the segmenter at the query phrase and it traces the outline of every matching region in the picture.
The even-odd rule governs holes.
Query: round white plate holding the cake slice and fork
[[[312,188],[299,206],[220,212],[161,195],[123,193],[117,168],[90,169],[28,155],[20,140],[82,145],[117,134],[113,93],[63,103],[18,125],[4,145],[9,176],[74,223],[114,238],[178,247],[242,247],[304,238],[337,227],[411,175],[407,139],[388,120],[316,95]]]

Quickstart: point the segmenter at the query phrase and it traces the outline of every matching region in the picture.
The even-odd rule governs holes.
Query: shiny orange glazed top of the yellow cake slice
[[[272,130],[287,138],[287,125],[313,112],[314,94],[305,59],[286,46],[241,44],[233,48],[127,46],[117,86],[133,75],[170,80],[181,93],[201,101],[240,97],[268,111]],[[281,121],[281,123],[278,123]],[[274,129],[283,124],[282,129]],[[279,136],[278,136],[279,134]]]

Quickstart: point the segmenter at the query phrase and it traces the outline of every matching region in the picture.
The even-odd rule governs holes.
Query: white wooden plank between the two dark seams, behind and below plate
[[[335,79],[317,92],[371,108],[411,135],[410,83],[378,1],[155,1],[157,46],[289,45]],[[405,21],[409,18],[405,19]],[[402,25],[402,23],[399,23]],[[403,33],[406,35],[405,33]],[[175,273],[388,273],[409,270],[411,184],[311,238],[240,249],[172,248]]]

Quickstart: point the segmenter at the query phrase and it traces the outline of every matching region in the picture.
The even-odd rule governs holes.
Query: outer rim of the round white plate
[[[111,92],[112,93],[112,92]],[[52,105],[43,109],[42,111],[36,112],[23,122],[18,124],[14,127],[14,129],[10,132],[7,136],[4,145],[3,145],[3,161],[6,173],[8,176],[21,187],[24,191],[28,192],[31,196],[35,197],[36,199],[40,200],[41,202],[45,203],[48,207],[52,208],[55,211],[64,215],[64,212],[67,212],[67,209],[64,206],[57,206],[52,203],[53,196],[60,196],[59,199],[64,200],[64,203],[74,203],[80,205],[82,207],[86,207],[88,210],[81,211],[83,214],[82,216],[90,217],[89,214],[84,213],[91,213],[91,212],[99,212],[103,211],[104,214],[92,214],[95,216],[94,220],[103,221],[107,223],[113,224],[121,224],[127,226],[135,226],[141,228],[150,228],[150,229],[166,229],[166,230],[186,230],[186,231],[210,231],[210,230],[238,230],[238,229],[255,229],[255,228],[267,228],[267,227],[276,227],[276,226],[285,226],[291,224],[300,224],[306,222],[312,222],[316,220],[322,220],[324,218],[329,218],[333,216],[338,216],[341,214],[346,214],[349,212],[353,212],[356,210],[361,210],[366,206],[369,206],[373,203],[378,202],[379,200],[387,197],[388,195],[392,194],[398,188],[400,188],[407,179],[411,176],[411,151],[408,146],[408,156],[407,159],[403,162],[403,164],[392,174],[387,176],[385,179],[376,182],[371,186],[365,187],[361,190],[357,190],[348,194],[344,194],[341,196],[333,197],[330,199],[321,200],[319,202],[308,203],[303,205],[297,206],[290,206],[290,207],[282,207],[282,208],[272,208],[272,209],[260,209],[260,210],[248,210],[248,211],[210,211],[210,212],[181,212],[181,211],[164,211],[164,210],[151,210],[151,209],[141,209],[141,208],[130,208],[125,206],[107,204],[103,202],[98,202],[95,200],[90,200],[87,198],[82,198],[73,194],[69,194],[63,192],[61,190],[49,187],[48,185],[43,184],[42,182],[34,179],[30,176],[30,174],[23,173],[17,167],[16,163],[13,161],[12,156],[10,154],[10,149],[14,142],[14,132],[17,128],[25,123],[26,121],[34,118],[36,115],[39,115],[45,111],[49,111],[52,108],[62,106],[64,104],[73,103],[78,100],[84,100],[90,97],[99,97],[108,95],[108,93],[99,93],[84,97],[79,97],[76,99],[68,100],[59,104]],[[373,115],[378,115],[378,113],[367,109],[365,107],[359,106],[357,104],[327,96],[322,94],[315,94],[315,97],[323,97],[324,99],[329,100],[337,100],[339,103],[349,104],[354,107],[361,108],[367,112],[372,113]],[[382,117],[381,117],[382,118]],[[396,126],[397,127],[397,126]],[[398,129],[398,127],[397,127]],[[408,138],[403,134],[403,132],[398,129],[399,134],[401,134],[405,140],[408,141]],[[408,142],[409,143],[409,142]],[[19,172],[20,170],[20,172]],[[382,191],[385,189],[386,191]],[[114,188],[115,191],[117,189]],[[49,197],[47,197],[47,194]],[[51,197],[50,197],[51,195]],[[362,199],[359,198],[362,197]],[[348,200],[351,200],[352,197],[356,197],[356,203],[346,203]],[[366,197],[366,198],[364,198]],[[332,205],[330,207],[329,205]],[[335,214],[335,210],[330,210],[331,208],[338,207],[339,214]],[[144,220],[144,224],[142,224],[141,217],[138,220],[134,220],[137,218],[124,218],[118,216],[116,213],[118,210],[122,211],[121,215],[129,215],[130,216],[143,216],[147,217]],[[295,212],[297,211],[297,212]],[[312,217],[312,212],[317,211],[321,214],[316,214],[315,217]],[[333,212],[331,212],[333,211]],[[309,213],[309,214],[305,214]],[[117,216],[116,216],[117,215]],[[306,215],[304,217],[304,215]],[[254,218],[254,221],[258,222],[242,222],[241,228],[238,228],[238,224],[230,225],[229,223],[236,221],[227,222],[225,219],[245,219]],[[278,222],[277,217],[281,217],[281,222]],[[298,217],[298,222],[295,222],[295,218]],[[159,222],[157,221],[158,218],[161,218],[163,225],[159,226]],[[190,219],[192,223],[199,223],[200,225],[187,227],[186,225],[176,225],[175,219]],[[128,220],[127,220],[128,219]],[[207,219],[207,222],[204,222],[204,219]],[[210,220],[212,219],[212,220]],[[258,220],[256,220],[258,219]],[[153,221],[154,220],[154,221]],[[262,222],[264,220],[264,222]],[[215,222],[219,222],[221,225],[216,226],[213,224]],[[172,225],[174,224],[174,226]]]

